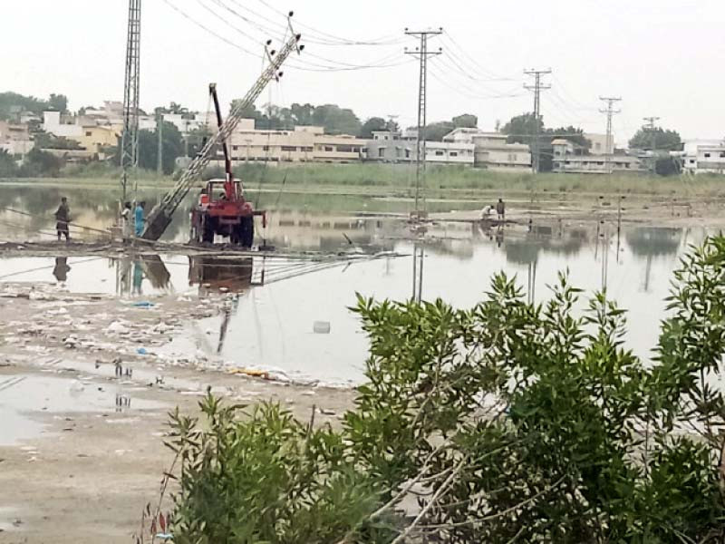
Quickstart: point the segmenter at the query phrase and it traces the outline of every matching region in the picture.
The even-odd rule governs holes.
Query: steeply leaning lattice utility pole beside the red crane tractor
[[[217,133],[209,138],[207,144],[199,151],[198,155],[191,161],[189,168],[182,174],[179,181],[169,192],[164,195],[159,204],[151,209],[148,219],[146,220],[146,227],[143,229],[141,238],[147,240],[158,240],[164,233],[169,224],[171,223],[171,216],[179,208],[181,201],[189,194],[189,189],[194,185],[194,182],[198,179],[204,169],[207,167],[209,161],[212,159],[212,154],[215,151],[220,141],[228,141],[232,132],[237,128],[237,124],[243,118],[244,112],[247,106],[253,104],[262,91],[265,90],[266,85],[276,79],[279,75],[279,69],[282,64],[285,63],[287,57],[296,51],[299,53],[303,46],[299,45],[301,35],[293,32],[289,40],[287,40],[282,50],[275,56],[267,55],[269,58],[269,64],[256,83],[249,89],[247,95],[241,100],[237,101],[232,108],[232,111],[227,117],[227,121],[224,121],[222,126],[219,128]]]

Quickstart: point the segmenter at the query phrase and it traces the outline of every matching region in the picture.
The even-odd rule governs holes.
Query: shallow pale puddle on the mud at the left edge
[[[46,377],[27,374],[0,379],[0,446],[39,436],[42,423],[33,419],[39,414],[127,413],[160,410],[164,403],[135,398],[119,384],[102,384],[88,380]]]

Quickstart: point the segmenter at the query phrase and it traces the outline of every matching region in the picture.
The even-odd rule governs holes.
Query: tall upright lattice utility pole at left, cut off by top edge
[[[140,41],[141,0],[129,0],[126,75],[123,89],[123,131],[121,132],[122,202],[127,199],[129,172],[139,166]]]

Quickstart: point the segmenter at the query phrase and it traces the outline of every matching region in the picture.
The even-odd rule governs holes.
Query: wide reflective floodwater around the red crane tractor
[[[111,223],[115,197],[101,190],[0,185],[8,206],[33,214],[25,218],[28,229],[53,228],[47,216],[61,194],[68,195],[79,223],[97,228]],[[401,219],[410,205],[394,199],[277,194],[262,195],[260,204],[273,210],[264,236],[277,248],[361,255],[390,251],[404,257],[333,267],[280,257],[12,257],[0,259],[0,282],[50,282],[73,292],[133,300],[236,292],[239,296],[223,315],[190,323],[167,350],[187,354],[202,350],[238,366],[272,367],[325,383],[356,384],[364,377],[367,340],[349,307],[355,304],[356,293],[378,299],[409,298],[414,254],[423,255],[422,297],[440,297],[457,307],[476,304],[499,271],[516,275],[536,302],[546,300],[547,286],[563,270],[568,270],[575,287],[587,293],[606,286],[609,296],[629,311],[629,346],[646,358],[665,316],[663,299],[672,271],[688,246],[707,235],[701,228],[627,227],[618,237],[615,225],[594,219],[560,228],[534,225],[532,232],[441,223],[430,228],[426,242],[417,246],[406,239],[410,232]],[[439,202],[431,207],[479,209],[480,203]],[[20,220],[16,216],[0,212],[0,219],[8,223]],[[186,240],[185,216],[182,207],[168,238]],[[0,238],[43,236],[11,226],[6,235]],[[417,276],[420,259],[415,267]],[[329,324],[329,333],[316,334],[315,322],[323,330]]]

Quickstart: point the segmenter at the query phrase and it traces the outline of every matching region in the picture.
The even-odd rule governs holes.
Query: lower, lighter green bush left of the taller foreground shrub
[[[169,447],[181,461],[174,541],[306,544],[389,542],[377,482],[344,459],[343,439],[273,404],[247,419],[208,395],[205,418],[173,413]]]

